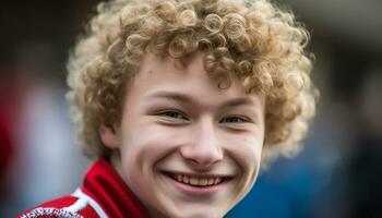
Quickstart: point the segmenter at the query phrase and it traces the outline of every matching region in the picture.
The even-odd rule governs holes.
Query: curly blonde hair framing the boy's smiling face
[[[68,63],[68,99],[80,144],[91,158],[110,154],[99,125],[119,122],[127,82],[146,52],[182,60],[202,51],[207,73],[237,76],[248,93],[264,94],[263,158],[294,154],[315,108],[308,41],[294,14],[266,0],[99,3]]]

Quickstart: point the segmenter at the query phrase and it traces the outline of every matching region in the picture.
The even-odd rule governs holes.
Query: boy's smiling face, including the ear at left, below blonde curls
[[[153,217],[222,217],[252,187],[264,140],[264,102],[238,81],[208,77],[198,53],[186,68],[146,55],[129,82],[116,133],[121,177]]]

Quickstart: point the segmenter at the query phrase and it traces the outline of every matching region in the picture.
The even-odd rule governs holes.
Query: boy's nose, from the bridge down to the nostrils
[[[207,168],[223,159],[222,147],[217,144],[214,124],[201,121],[191,131],[189,144],[180,147],[181,156],[195,167]]]

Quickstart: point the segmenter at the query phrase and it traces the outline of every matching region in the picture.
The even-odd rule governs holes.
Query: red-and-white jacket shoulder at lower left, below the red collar
[[[103,209],[80,189],[72,195],[46,202],[17,218],[104,218]]]

